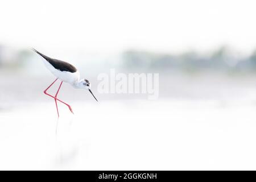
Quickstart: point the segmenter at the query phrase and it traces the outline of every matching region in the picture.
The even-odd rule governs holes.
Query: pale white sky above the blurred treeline
[[[0,44],[119,52],[256,48],[256,1],[1,1]]]

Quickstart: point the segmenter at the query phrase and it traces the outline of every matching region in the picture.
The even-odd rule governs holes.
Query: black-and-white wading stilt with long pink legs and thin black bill
[[[57,95],[58,95],[58,93],[60,91],[60,88],[61,88],[61,85],[63,84],[63,82],[67,82],[68,84],[71,84],[73,86],[73,88],[76,88],[76,89],[88,90],[92,94],[92,96],[95,98],[95,100],[98,102],[97,98],[94,96],[94,94],[92,93],[92,90],[90,89],[91,88],[90,82],[87,79],[85,79],[85,78],[81,78],[80,79],[80,73],[76,69],[76,67],[74,67],[72,64],[69,64],[69,63],[67,63],[65,61],[61,61],[61,60],[57,60],[57,59],[52,59],[51,57],[48,57],[48,56],[44,55],[43,53],[41,53],[39,51],[36,51],[36,49],[34,49],[34,48],[31,48],[31,49],[32,49],[32,51],[35,51],[36,53],[38,53],[38,55],[43,57],[43,62],[44,62],[44,65],[46,65],[46,68],[49,69],[49,71],[54,76],[56,76],[56,80],[53,81],[52,84],[50,84],[46,88],[46,90],[44,90],[44,94],[46,94],[49,97],[54,98],[56,109],[57,109],[58,118],[60,117],[60,115],[59,115],[59,110],[58,110],[58,106],[57,106],[57,101],[65,104],[66,106],[68,106],[68,108],[71,111],[71,113],[74,114],[73,110],[72,110],[72,107],[69,104],[67,104],[67,103],[59,100],[59,98],[57,98]],[[51,88],[51,86],[58,79],[61,81],[60,82],[60,86],[57,89],[57,92],[56,92],[55,96],[52,96],[51,94],[47,93],[47,90],[49,88]]]

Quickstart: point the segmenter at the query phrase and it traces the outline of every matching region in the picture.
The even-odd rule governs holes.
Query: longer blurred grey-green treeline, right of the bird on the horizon
[[[242,56],[228,47],[204,54],[196,51],[172,54],[130,50],[122,54],[122,59],[123,66],[127,68],[256,73],[256,50],[250,55]]]

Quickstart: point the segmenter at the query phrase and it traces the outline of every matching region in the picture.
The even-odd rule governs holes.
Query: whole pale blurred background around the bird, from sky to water
[[[256,3],[2,1],[1,169],[255,169]],[[68,61],[100,101],[55,79]],[[97,93],[97,76],[159,73],[159,99]],[[55,93],[57,85],[49,92]]]

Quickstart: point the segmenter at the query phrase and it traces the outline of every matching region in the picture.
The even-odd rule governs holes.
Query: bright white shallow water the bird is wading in
[[[0,169],[256,169],[251,101],[53,102],[0,112]]]

